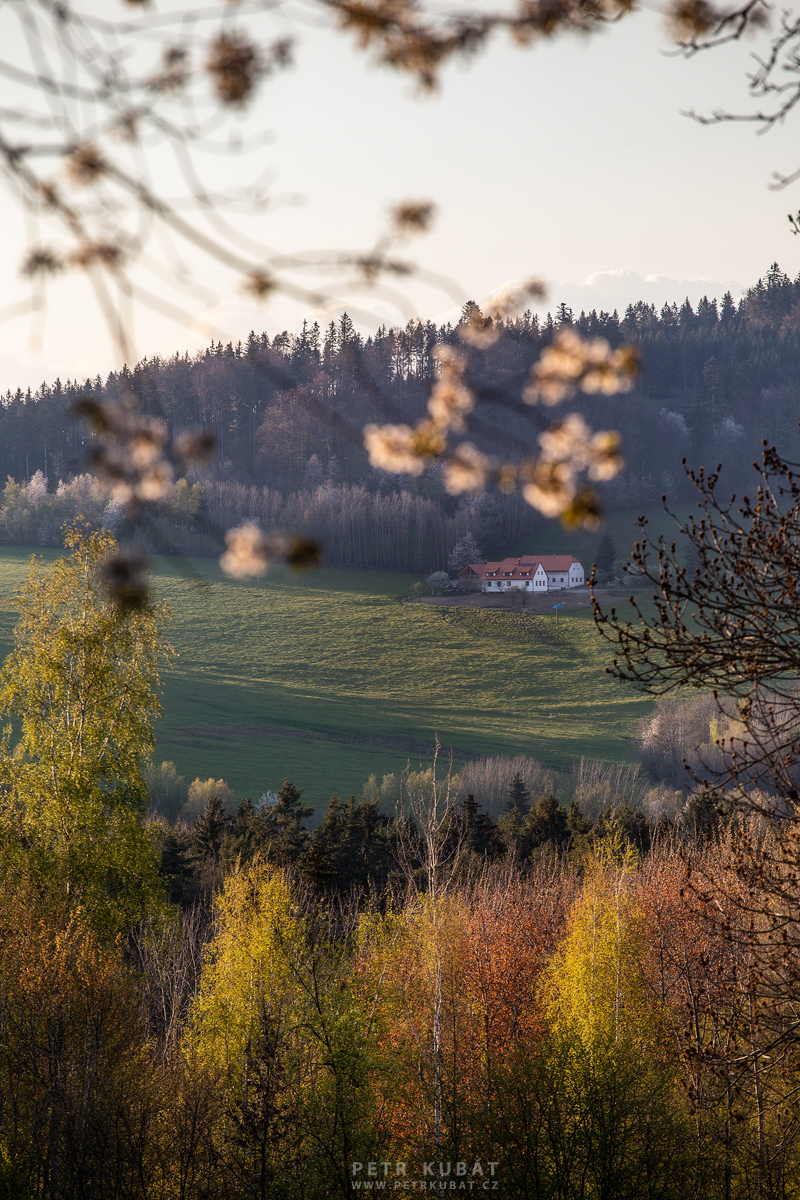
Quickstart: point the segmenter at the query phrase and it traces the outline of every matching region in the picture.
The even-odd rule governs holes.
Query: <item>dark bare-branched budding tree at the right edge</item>
[[[758,1087],[764,1063],[795,1070],[800,1045],[800,478],[766,444],[756,469],[753,500],[720,499],[718,470],[691,476],[700,515],[678,524],[694,570],[675,541],[650,542],[642,522],[633,566],[655,612],[631,596],[626,622],[594,601],[613,676],[655,696],[710,690],[716,702],[693,802],[735,820],[724,870],[688,866],[706,916],[746,960],[752,1044],[720,1057],[727,1088],[747,1076]]]

